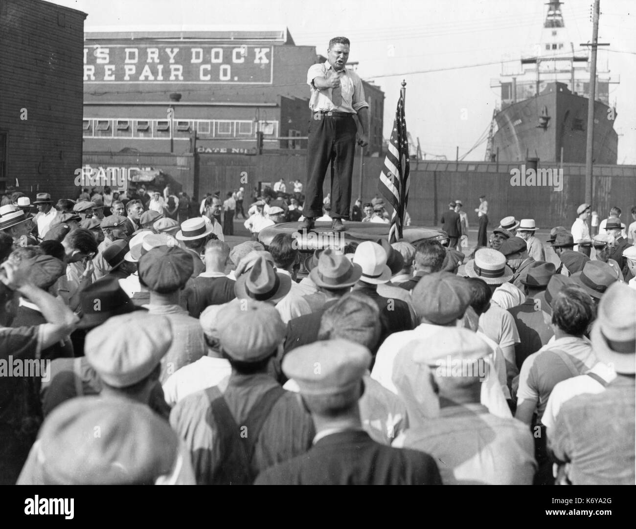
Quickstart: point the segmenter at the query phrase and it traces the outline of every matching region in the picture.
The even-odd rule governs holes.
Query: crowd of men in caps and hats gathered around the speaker
[[[169,189],[140,191],[0,206],[1,483],[634,484],[616,209],[591,237],[581,205],[547,244],[509,216],[467,256],[455,201],[446,246],[303,254],[283,233],[230,248],[214,195],[174,219]],[[279,198],[248,211],[255,238],[301,214]]]

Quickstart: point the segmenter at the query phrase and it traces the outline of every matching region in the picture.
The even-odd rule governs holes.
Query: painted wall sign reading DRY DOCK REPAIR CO
[[[272,46],[89,45],[84,83],[272,84]]]

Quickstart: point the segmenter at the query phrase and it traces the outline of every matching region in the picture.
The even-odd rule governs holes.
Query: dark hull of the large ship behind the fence
[[[616,163],[618,134],[612,113],[607,105],[595,102],[595,163]],[[539,126],[542,114],[550,118],[546,127]],[[570,92],[562,83],[551,83],[538,96],[511,104],[495,115],[498,130],[492,152],[498,153],[501,162],[539,158],[542,162],[585,163],[587,118],[586,97]]]

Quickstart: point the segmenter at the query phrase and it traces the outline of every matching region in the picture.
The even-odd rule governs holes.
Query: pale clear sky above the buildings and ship
[[[287,27],[298,45],[325,55],[329,38],[351,40],[358,74],[385,92],[384,136],[406,80],[406,124],[422,150],[455,158],[471,149],[492,118],[501,60],[539,41],[545,0],[53,0],[85,13],[85,31],[179,29],[191,25]],[[562,6],[575,50],[591,40],[590,1]],[[601,0],[599,42],[610,43],[610,103],[616,104],[618,163],[636,164],[636,0]],[[306,72],[298,72],[303,79]],[[307,95],[308,95],[307,90]],[[467,119],[462,119],[467,118]],[[467,160],[483,160],[485,143]]]

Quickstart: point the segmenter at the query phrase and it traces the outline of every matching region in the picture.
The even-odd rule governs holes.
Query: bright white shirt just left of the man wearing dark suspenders
[[[232,366],[225,358],[203,356],[172,373],[163,383],[163,396],[174,406],[188,395],[218,385],[230,374]]]

